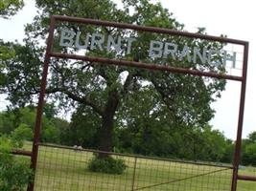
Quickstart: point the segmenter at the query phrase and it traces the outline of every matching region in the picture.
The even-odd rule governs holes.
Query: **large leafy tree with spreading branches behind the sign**
[[[51,14],[184,31],[184,26],[175,20],[172,13],[160,4],[151,4],[148,0],[124,0],[122,9],[110,0],[63,0],[61,2],[37,0],[35,2],[41,12],[35,16],[34,23],[26,27],[26,45],[13,45],[16,56],[3,62],[5,70],[2,73],[5,75],[7,83],[2,85],[1,92],[8,93],[12,104],[18,106],[24,106],[35,100],[34,97],[39,92],[39,78],[45,46],[38,42],[47,37]],[[57,30],[67,27],[76,32],[93,31],[91,27],[73,24],[60,24]],[[97,30],[113,36],[136,36],[138,44],[134,45],[131,53],[124,56],[120,53],[121,59],[133,61],[155,61],[158,64],[163,64],[161,60],[151,60],[146,49],[143,49],[149,46],[151,39],[162,40],[164,38],[166,41],[173,41],[180,46],[187,44],[189,47],[197,46],[200,49],[203,47],[221,49],[222,47],[219,43],[205,40],[198,41],[198,39],[149,32],[126,32],[104,27]],[[198,32],[203,33],[201,30]],[[58,36],[56,38],[58,39]],[[55,49],[60,50],[58,44],[55,44]],[[60,51],[69,52],[69,50]],[[73,52],[76,51],[73,50]],[[99,52],[98,50],[90,50],[87,54],[105,57],[115,56],[115,53]],[[200,68],[201,70],[224,72],[223,69],[210,66],[207,63],[204,65],[194,64],[186,61],[175,61],[172,58],[169,58],[167,62],[171,66],[188,69]],[[97,147],[100,150],[111,151],[116,138],[115,132],[123,128],[124,125],[126,128],[138,128],[135,130],[138,139],[153,138],[155,133],[160,134],[157,129],[160,125],[164,129],[163,134],[171,133],[172,129],[178,128],[178,126],[202,129],[214,116],[210,104],[215,100],[215,96],[220,96],[224,84],[224,80],[211,79],[206,82],[203,77],[189,74],[170,74],[107,66],[100,63],[52,59],[46,93],[48,97],[59,102],[59,106],[79,108],[82,105],[88,113],[87,115],[93,118],[97,117],[98,127],[95,127],[97,129],[95,133]],[[146,99],[152,101],[154,105],[145,101]],[[141,113],[136,113],[137,107],[141,107],[139,110]],[[147,111],[144,111],[144,108]],[[143,116],[144,114],[146,116]],[[81,124],[76,124],[76,115],[73,117],[72,125],[79,127]],[[161,124],[163,118],[165,121],[170,121],[168,127]],[[145,152],[148,151],[145,150]]]

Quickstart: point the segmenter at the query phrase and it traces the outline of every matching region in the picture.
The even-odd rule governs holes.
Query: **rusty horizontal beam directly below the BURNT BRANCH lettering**
[[[109,59],[109,58],[102,58],[102,57],[69,54],[69,53],[50,53],[50,56],[64,58],[64,59],[76,59],[76,60],[90,61],[90,62],[101,62],[101,63],[117,65],[117,66],[128,66],[128,67],[137,67],[137,68],[151,69],[151,70],[157,70],[157,71],[168,71],[168,72],[178,73],[178,74],[193,74],[193,75],[199,75],[199,76],[209,76],[209,77],[230,79],[235,81],[243,81],[243,77],[236,76],[236,75],[201,72],[198,70],[175,68],[175,67],[170,67],[166,65],[157,65],[152,63],[116,60],[116,59]]]

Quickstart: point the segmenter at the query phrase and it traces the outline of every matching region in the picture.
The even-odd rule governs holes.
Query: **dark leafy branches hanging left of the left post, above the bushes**
[[[12,46],[15,56],[7,60],[1,60],[1,65],[3,66],[1,74],[5,77],[5,83],[2,84],[0,93],[12,92],[9,97],[12,105],[24,107],[30,103],[28,96],[35,95],[39,90],[41,71],[39,66],[41,61],[38,59],[37,54],[31,50],[32,45],[26,44],[22,46],[12,43],[10,46]],[[26,81],[26,86],[22,81]],[[36,88],[34,89],[33,87]]]

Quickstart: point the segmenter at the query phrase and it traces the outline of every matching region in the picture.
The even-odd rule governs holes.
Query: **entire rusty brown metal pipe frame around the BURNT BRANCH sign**
[[[121,61],[121,60],[115,60],[115,59],[81,56],[81,55],[68,54],[68,53],[52,53],[56,21],[91,24],[91,25],[96,25],[96,26],[115,27],[115,28],[119,28],[119,29],[130,29],[130,30],[142,31],[142,32],[166,33],[166,34],[172,34],[172,35],[178,35],[178,36],[205,39],[205,40],[210,40],[210,41],[218,41],[221,43],[232,43],[232,44],[242,45],[242,46],[244,46],[243,74],[242,74],[242,76],[236,76],[236,75],[228,75],[228,74],[205,73],[205,72],[200,72],[197,70],[174,68],[174,67],[155,65],[155,64],[149,64],[149,63],[141,63],[141,62],[133,62],[133,61],[125,61],[125,60]],[[247,61],[248,61],[248,45],[249,45],[248,42],[242,41],[242,40],[217,37],[217,36],[211,36],[211,35],[203,35],[203,34],[198,34],[198,33],[177,32],[177,31],[173,31],[173,30],[160,29],[160,28],[154,28],[154,27],[143,27],[143,26],[124,24],[124,23],[116,23],[116,22],[108,22],[108,21],[102,21],[102,20],[93,20],[93,19],[86,19],[86,18],[52,15],[49,37],[48,37],[48,41],[47,41],[47,48],[46,48],[45,59],[44,59],[44,68],[43,68],[43,74],[42,74],[42,79],[41,79],[40,94],[39,94],[39,98],[38,98],[37,113],[36,113],[36,119],[35,119],[35,134],[34,134],[34,141],[33,141],[33,151],[32,151],[32,153],[24,153],[24,155],[31,156],[31,161],[32,161],[31,167],[35,170],[36,162],[37,162],[37,155],[38,155],[39,138],[40,138],[40,125],[41,125],[41,117],[42,117],[42,110],[43,110],[43,101],[44,101],[44,96],[45,96],[45,89],[46,89],[46,84],[47,84],[47,74],[48,74],[49,62],[50,62],[51,57],[78,59],[78,60],[83,60],[83,61],[95,61],[95,62],[102,62],[105,64],[112,64],[112,65],[130,66],[130,67],[144,68],[144,69],[150,69],[150,70],[169,71],[172,73],[179,73],[179,74],[193,74],[193,75],[200,75],[200,76],[203,75],[203,76],[210,76],[210,77],[216,77],[216,78],[224,78],[224,79],[229,79],[229,80],[236,80],[236,81],[240,81],[242,83],[237,139],[236,139],[236,147],[235,147],[235,153],[234,153],[234,159],[233,159],[233,178],[232,178],[232,186],[231,186],[231,191],[236,191],[238,180],[256,180],[255,177],[239,176],[238,175],[239,160],[240,160],[240,155],[241,155],[243,120],[244,120],[244,100],[245,100],[245,88],[246,88]],[[21,153],[19,152],[19,154],[21,154]],[[28,191],[33,191],[33,190],[34,190],[34,181],[28,187]]]

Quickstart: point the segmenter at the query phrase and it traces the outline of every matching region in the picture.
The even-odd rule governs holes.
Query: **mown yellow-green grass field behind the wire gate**
[[[30,147],[30,143],[25,146],[26,150]],[[232,169],[224,166],[113,156],[124,159],[128,168],[122,175],[107,175],[87,170],[92,157],[92,152],[40,146],[35,191],[230,190]],[[240,174],[255,176],[256,169],[245,167]],[[254,190],[256,182],[239,181],[238,191]]]

